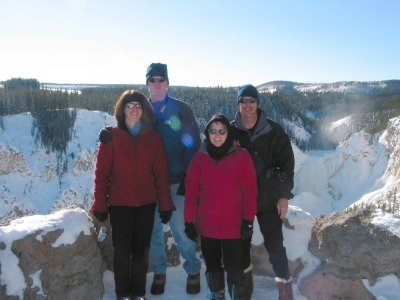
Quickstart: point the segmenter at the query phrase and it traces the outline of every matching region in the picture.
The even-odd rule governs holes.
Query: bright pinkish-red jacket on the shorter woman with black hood
[[[242,220],[254,220],[257,181],[253,161],[240,146],[233,145],[231,151],[216,161],[200,150],[190,163],[185,222],[195,222],[201,236],[240,238]]]

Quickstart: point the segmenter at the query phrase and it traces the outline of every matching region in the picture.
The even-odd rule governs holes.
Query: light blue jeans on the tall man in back
[[[184,231],[185,197],[176,194],[178,186],[179,183],[171,185],[171,197],[176,210],[172,213],[169,227],[171,228],[176,246],[185,260],[183,269],[188,275],[194,275],[200,272],[201,262],[196,255],[196,243],[188,239]],[[161,223],[158,208],[155,211],[153,232],[151,234],[149,262],[155,274],[165,274],[167,272],[164,226]]]

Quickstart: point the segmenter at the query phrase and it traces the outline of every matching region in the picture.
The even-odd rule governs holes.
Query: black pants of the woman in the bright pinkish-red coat
[[[231,296],[241,299],[244,289],[244,277],[241,258],[241,239],[212,239],[201,237],[201,251],[206,262],[206,278],[212,292],[223,289],[223,272],[227,273],[228,290]],[[208,276],[209,275],[209,276]],[[222,275],[222,279],[220,278]],[[209,277],[209,278],[208,278]],[[217,280],[220,285],[216,286]]]

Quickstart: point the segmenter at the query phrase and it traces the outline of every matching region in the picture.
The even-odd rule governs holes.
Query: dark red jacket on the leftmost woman
[[[141,206],[159,202],[159,210],[175,209],[171,200],[167,158],[161,137],[148,129],[136,138],[113,128],[113,138],[97,154],[92,211],[107,205]]]

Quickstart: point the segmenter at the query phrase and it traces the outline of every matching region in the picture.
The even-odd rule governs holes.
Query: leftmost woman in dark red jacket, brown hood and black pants
[[[156,202],[163,223],[175,209],[167,158],[145,95],[125,91],[114,117],[113,139],[97,154],[91,211],[100,221],[110,213],[117,299],[144,299]]]

